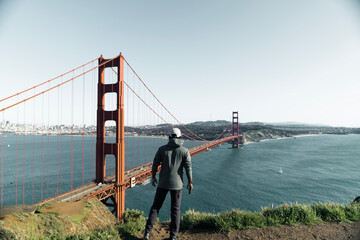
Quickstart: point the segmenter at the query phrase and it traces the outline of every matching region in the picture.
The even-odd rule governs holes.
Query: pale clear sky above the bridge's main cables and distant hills
[[[0,98],[120,52],[183,123],[360,127],[360,1],[0,0]]]

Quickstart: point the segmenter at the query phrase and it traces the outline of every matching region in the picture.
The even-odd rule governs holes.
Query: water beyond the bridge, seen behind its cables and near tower
[[[106,139],[115,142],[114,137]],[[125,137],[125,170],[152,162],[166,138]],[[95,179],[95,136],[0,134],[1,206],[34,204]],[[194,146],[185,141],[185,146]],[[106,156],[106,176],[115,158]]]

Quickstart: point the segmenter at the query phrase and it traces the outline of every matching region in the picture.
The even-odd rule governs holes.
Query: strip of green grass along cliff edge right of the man
[[[263,208],[261,212],[232,210],[218,214],[187,211],[181,217],[183,229],[210,228],[218,231],[263,228],[321,222],[351,222],[360,220],[360,204],[338,203],[283,204]]]

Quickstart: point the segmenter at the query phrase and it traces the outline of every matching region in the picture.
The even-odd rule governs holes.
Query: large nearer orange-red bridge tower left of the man
[[[102,56],[99,65],[108,61]],[[117,68],[117,82],[105,84],[105,68]],[[103,200],[107,206],[113,207],[117,218],[125,211],[125,144],[124,144],[124,58],[118,57],[99,67],[98,73],[98,109],[96,137],[96,182],[103,183],[106,177],[106,155],[115,156],[115,193]],[[117,94],[117,107],[113,111],[105,110],[105,94]],[[115,121],[116,142],[105,142],[105,122]],[[113,203],[108,203],[111,199]]]

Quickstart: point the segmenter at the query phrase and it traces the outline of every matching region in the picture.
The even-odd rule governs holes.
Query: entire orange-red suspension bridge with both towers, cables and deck
[[[171,128],[191,141],[191,156],[226,142],[239,148],[243,139],[238,112],[216,138],[195,134],[122,54],[100,56],[0,104],[1,207],[96,197],[120,218],[125,189],[151,177],[153,156]]]

